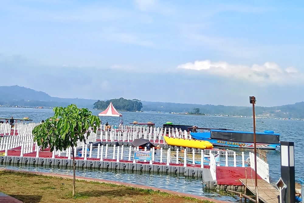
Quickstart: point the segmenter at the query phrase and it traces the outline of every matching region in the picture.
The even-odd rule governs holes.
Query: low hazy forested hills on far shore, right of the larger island
[[[161,111],[161,112],[191,112],[194,108],[199,108],[202,114],[222,114],[235,116],[252,116],[252,107],[223,106],[211,104],[186,104],[186,103],[168,103],[168,102],[149,102],[142,101],[143,111]],[[304,102],[288,104],[278,107],[260,107],[255,106],[255,114],[263,117],[276,118],[304,118]]]

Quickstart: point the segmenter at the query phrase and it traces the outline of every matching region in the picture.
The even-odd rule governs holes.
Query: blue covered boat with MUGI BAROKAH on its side
[[[190,135],[216,146],[254,148],[253,132],[212,129],[209,132],[191,132]],[[258,149],[276,149],[280,146],[280,134],[274,131],[257,132],[256,143]]]

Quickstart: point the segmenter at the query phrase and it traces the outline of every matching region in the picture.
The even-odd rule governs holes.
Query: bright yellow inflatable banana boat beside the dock
[[[212,149],[213,145],[204,140],[189,140],[189,139],[183,139],[183,138],[173,138],[164,136],[165,141],[168,145],[173,146],[180,146],[180,147],[190,147],[190,148],[196,148],[196,149]]]

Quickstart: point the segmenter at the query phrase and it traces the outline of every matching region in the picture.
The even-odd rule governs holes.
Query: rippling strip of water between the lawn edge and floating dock
[[[47,167],[47,166],[18,166],[16,165],[2,165],[2,168],[14,169],[14,170],[26,170],[26,171],[37,171],[47,173],[57,173],[65,175],[73,175],[72,167]],[[179,174],[170,173],[158,173],[150,172],[143,173],[142,171],[126,172],[121,170],[107,170],[107,169],[84,169],[77,168],[76,176],[90,177],[103,180],[119,181],[124,183],[132,183],[137,185],[146,185],[151,187],[157,187],[167,189],[171,191],[183,192],[186,194],[195,194],[202,197],[209,197],[219,200],[230,200],[238,202],[239,199],[230,196],[220,196],[215,192],[209,192],[204,190],[202,179],[197,177],[185,177]]]

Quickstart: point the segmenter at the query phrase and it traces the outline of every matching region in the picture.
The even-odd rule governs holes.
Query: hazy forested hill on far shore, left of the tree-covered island
[[[93,108],[96,100],[70,99],[52,97],[45,92],[36,91],[20,86],[0,86],[0,105],[27,106],[27,107],[56,107],[67,106],[71,103],[78,107]]]

